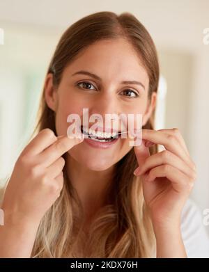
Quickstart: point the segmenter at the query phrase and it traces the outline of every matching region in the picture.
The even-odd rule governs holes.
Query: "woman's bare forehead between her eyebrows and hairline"
[[[104,80],[141,80],[148,84],[148,74],[139,55],[127,40],[100,40],[80,52],[68,72],[88,70]]]

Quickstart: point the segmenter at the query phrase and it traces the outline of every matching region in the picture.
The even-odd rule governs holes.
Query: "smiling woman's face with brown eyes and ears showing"
[[[77,73],[90,72],[88,74]],[[77,73],[77,74],[75,74]],[[75,75],[73,75],[75,74]],[[68,115],[78,114],[83,123],[83,109],[88,109],[88,117],[93,113],[103,118],[103,124],[98,126],[105,129],[105,115],[107,113],[121,115],[140,113],[145,125],[155,106],[153,95],[148,104],[148,74],[139,60],[136,51],[126,40],[100,40],[79,53],[77,58],[65,67],[61,83],[56,90],[52,90],[52,77],[49,74],[45,86],[45,99],[48,106],[56,111],[57,135],[66,135],[70,125]],[[100,78],[100,79],[99,79]],[[139,81],[139,83],[121,83],[122,81]],[[95,122],[88,122],[91,127]],[[135,122],[134,122],[135,123]],[[110,127],[111,126],[111,127]],[[114,123],[109,128],[127,131],[127,124],[119,120],[119,127]],[[105,170],[133,148],[132,138],[119,137],[115,143],[107,148],[90,145],[84,139],[68,151],[70,156],[81,165],[91,170]],[[90,140],[95,143],[95,141]],[[96,142],[98,143],[98,141]]]

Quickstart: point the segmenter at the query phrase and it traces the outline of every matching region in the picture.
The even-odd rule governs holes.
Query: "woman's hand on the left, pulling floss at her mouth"
[[[40,223],[63,188],[65,160],[61,156],[83,139],[56,137],[51,129],[33,138],[17,159],[6,186],[1,205],[5,218]]]

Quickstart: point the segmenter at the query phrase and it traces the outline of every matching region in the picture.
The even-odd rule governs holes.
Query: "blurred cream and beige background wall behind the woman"
[[[63,31],[90,13],[133,13],[152,35],[160,58],[156,128],[178,127],[198,177],[192,198],[209,208],[209,27],[207,0],[0,1],[0,187],[26,145],[49,60]],[[209,229],[209,227],[208,227]]]

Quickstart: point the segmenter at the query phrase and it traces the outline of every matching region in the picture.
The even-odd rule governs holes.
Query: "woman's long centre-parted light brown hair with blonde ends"
[[[61,36],[49,63],[47,74],[53,74],[54,86],[59,85],[64,68],[80,51],[95,41],[114,38],[125,38],[138,53],[148,72],[150,101],[159,81],[157,52],[148,31],[130,13],[93,13],[72,24]],[[56,134],[54,115],[43,90],[36,131],[49,128]],[[154,129],[154,117],[155,109],[143,128]],[[150,154],[156,152],[157,145],[150,147]],[[95,216],[88,237],[82,231],[81,202],[64,167],[61,195],[40,222],[31,257],[152,257],[155,236],[141,181],[133,175],[137,165],[133,148],[116,163],[107,205]],[[77,245],[84,241],[88,253],[77,251]]]

